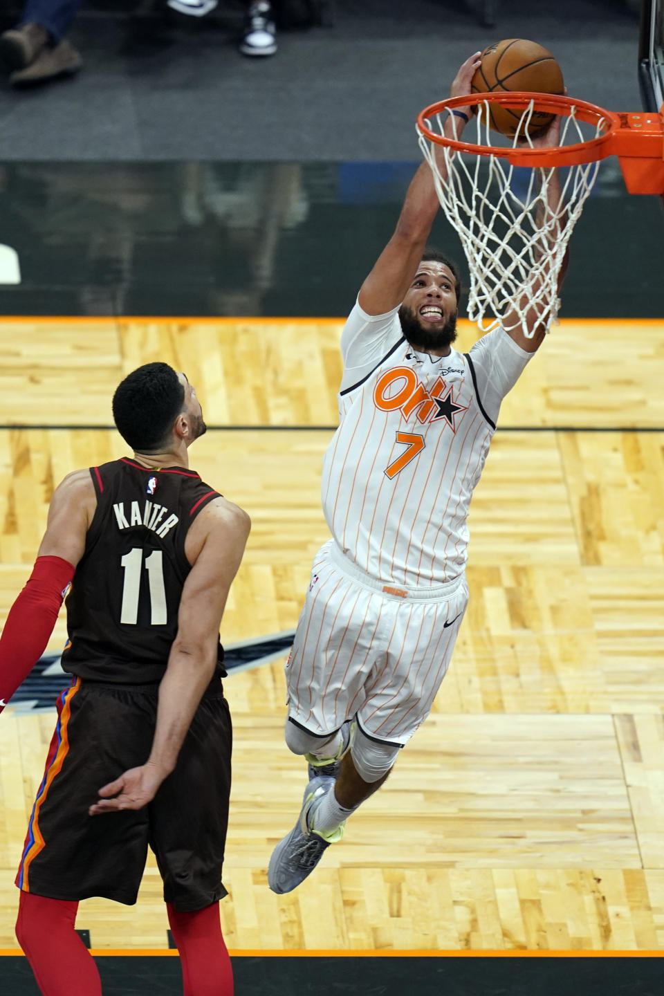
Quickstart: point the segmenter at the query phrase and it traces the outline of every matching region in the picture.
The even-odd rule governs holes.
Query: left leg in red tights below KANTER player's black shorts
[[[44,996],[102,996],[95,960],[74,929],[78,908],[21,891],[16,936]]]

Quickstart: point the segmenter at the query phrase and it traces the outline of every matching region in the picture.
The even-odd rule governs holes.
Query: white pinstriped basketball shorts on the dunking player
[[[431,711],[467,605],[465,575],[437,588],[392,587],[330,540],[286,664],[289,718],[316,736],[356,718],[367,736],[403,746]]]

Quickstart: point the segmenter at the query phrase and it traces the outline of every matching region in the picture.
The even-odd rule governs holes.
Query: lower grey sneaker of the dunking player
[[[314,778],[305,791],[298,822],[272,853],[268,884],[273,892],[291,892],[314,871],[331,844],[343,837],[343,824],[323,836],[311,829],[314,811],[334,787],[333,778]]]

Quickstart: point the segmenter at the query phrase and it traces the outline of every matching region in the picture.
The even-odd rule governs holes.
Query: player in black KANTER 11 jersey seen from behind
[[[79,900],[135,902],[149,845],[186,996],[231,996],[219,919],[231,763],[219,624],[249,518],[189,470],[205,423],[183,373],[130,373],[113,417],[133,456],[56,490],[0,639],[4,704],[72,585],[62,661],[74,681],[58,700],[16,879],[16,935],[46,996],[100,996],[75,930]]]

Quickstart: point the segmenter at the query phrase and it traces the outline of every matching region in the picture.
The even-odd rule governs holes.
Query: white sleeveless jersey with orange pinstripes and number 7
[[[344,391],[325,458],[332,535],[363,571],[395,588],[435,586],[463,571],[469,468],[481,466],[492,435],[465,358],[452,351],[435,360],[404,343]]]

